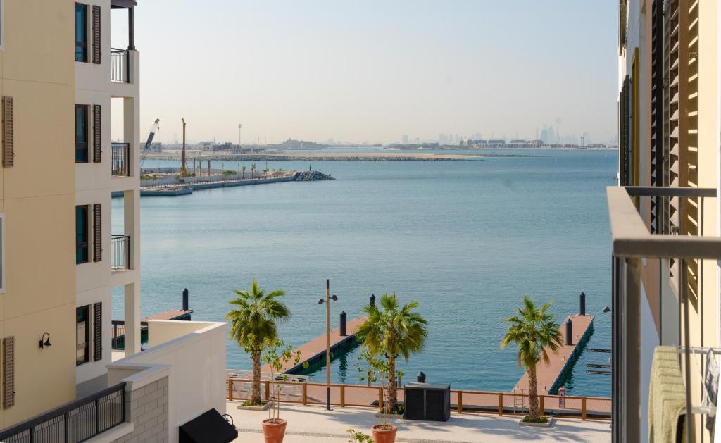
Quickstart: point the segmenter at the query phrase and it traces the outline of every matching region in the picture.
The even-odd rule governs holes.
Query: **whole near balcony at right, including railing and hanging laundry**
[[[681,405],[684,422],[693,424],[684,442],[702,441],[705,418],[716,412],[703,381],[709,360],[704,357],[721,354],[721,348],[709,348],[702,341],[704,319],[716,317],[713,312],[704,314],[704,302],[717,306],[720,299],[716,281],[704,294],[702,276],[704,266],[718,266],[721,237],[696,233],[703,234],[699,227],[704,204],[717,197],[717,190],[611,186],[606,194],[612,239],[613,441],[639,442],[653,427],[650,424],[661,426],[641,411],[644,405],[656,411],[668,399],[652,401],[650,394],[642,394],[647,387],[657,392],[656,397],[676,390],[673,401]],[[657,233],[650,232],[641,216],[651,214],[652,203],[658,211],[651,222]],[[716,227],[706,229],[715,232]],[[705,343],[714,342],[715,337],[708,337]],[[666,355],[671,359],[661,360]],[[668,372],[654,372],[657,357],[673,363],[673,380],[665,378]]]

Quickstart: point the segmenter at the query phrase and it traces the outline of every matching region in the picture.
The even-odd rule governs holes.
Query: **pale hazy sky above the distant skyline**
[[[616,133],[612,1],[138,0],[141,140]],[[112,12],[112,45],[127,45]],[[114,127],[118,122],[114,122]],[[115,132],[114,135],[118,133]]]

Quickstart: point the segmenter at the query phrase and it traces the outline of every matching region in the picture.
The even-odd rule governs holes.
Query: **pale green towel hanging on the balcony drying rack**
[[[679,418],[685,413],[686,387],[678,366],[678,351],[673,346],[656,346],[648,389],[649,442],[676,442],[679,435],[685,434],[685,426],[678,432]]]

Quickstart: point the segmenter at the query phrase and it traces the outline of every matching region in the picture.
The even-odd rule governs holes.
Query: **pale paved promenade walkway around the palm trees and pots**
[[[262,421],[267,411],[242,411],[238,402],[227,403],[227,413],[239,429],[236,442],[263,442]],[[348,442],[348,428],[366,431],[376,423],[370,408],[335,408],[322,406],[281,405],[280,417],[288,420],[286,443]],[[518,426],[518,416],[451,413],[443,421],[394,419],[398,426],[397,442],[425,443],[505,443],[505,442],[611,442],[608,421],[561,419],[549,429]]]

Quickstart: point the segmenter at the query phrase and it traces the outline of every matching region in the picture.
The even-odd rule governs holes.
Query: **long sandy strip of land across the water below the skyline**
[[[537,157],[527,154],[435,154],[432,152],[265,152],[237,154],[233,152],[188,151],[186,157],[211,162],[272,162],[273,160],[348,160],[348,161],[449,161],[476,160],[483,157]],[[179,160],[180,152],[150,152],[148,159]]]

